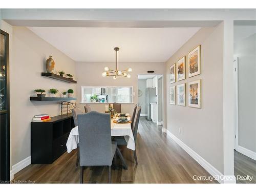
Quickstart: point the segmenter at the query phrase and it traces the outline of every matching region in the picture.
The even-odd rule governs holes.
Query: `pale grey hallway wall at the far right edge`
[[[243,26],[246,29],[246,26]],[[236,30],[236,28],[234,29]],[[254,29],[252,29],[254,32]],[[236,32],[236,31],[234,31]],[[238,63],[239,145],[256,152],[256,34],[234,44]]]

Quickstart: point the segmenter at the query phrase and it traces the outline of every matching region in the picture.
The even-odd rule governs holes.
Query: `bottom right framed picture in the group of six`
[[[188,83],[188,106],[201,108],[201,79]]]

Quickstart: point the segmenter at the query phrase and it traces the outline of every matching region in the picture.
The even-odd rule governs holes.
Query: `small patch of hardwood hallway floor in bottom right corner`
[[[238,180],[237,183],[256,183],[256,161],[234,150],[234,176],[253,176],[252,180]]]

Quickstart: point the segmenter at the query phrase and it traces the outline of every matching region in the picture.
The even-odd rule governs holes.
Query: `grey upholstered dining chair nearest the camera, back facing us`
[[[109,182],[111,183],[111,165],[117,151],[117,143],[111,141],[110,114],[92,111],[77,115],[77,119],[80,183],[83,183],[84,166],[109,166]]]

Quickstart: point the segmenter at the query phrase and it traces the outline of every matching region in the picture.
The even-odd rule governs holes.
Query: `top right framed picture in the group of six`
[[[188,77],[201,74],[201,45],[188,53]]]

